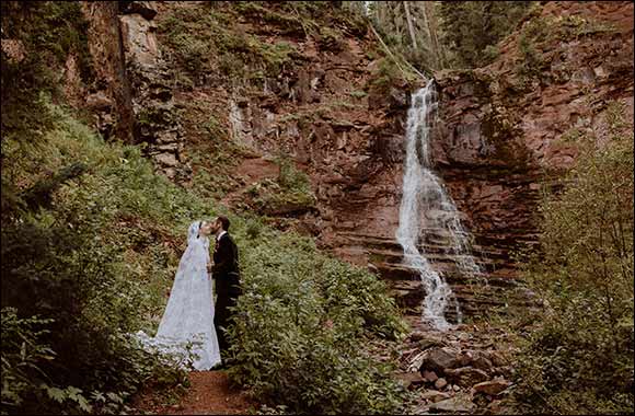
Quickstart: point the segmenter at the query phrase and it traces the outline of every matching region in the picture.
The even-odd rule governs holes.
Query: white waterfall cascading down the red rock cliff
[[[457,207],[441,180],[431,170],[429,135],[437,106],[435,81],[430,80],[413,95],[408,109],[406,161],[396,239],[404,250],[405,264],[418,271],[426,291],[423,319],[437,330],[446,331],[451,327],[444,317],[448,303],[453,302],[459,322],[461,313],[442,274],[435,270],[426,258],[420,245],[425,230],[434,230],[447,236],[460,273],[474,276],[480,275],[481,270],[471,254],[467,234],[461,226]]]

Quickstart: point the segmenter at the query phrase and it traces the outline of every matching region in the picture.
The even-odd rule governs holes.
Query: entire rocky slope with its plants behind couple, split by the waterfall
[[[330,2],[119,2],[101,11],[117,15],[107,21],[95,8],[93,55],[111,56],[101,78],[120,80],[88,97],[102,130],[131,117],[131,140],[170,177],[314,235],[416,311],[420,284],[394,233],[405,113],[423,81],[388,63],[362,20]],[[513,297],[511,255],[535,242],[541,183],[575,159],[567,140],[605,139],[615,108],[632,117],[633,5],[540,4],[499,50],[486,68],[436,76],[434,160],[488,285],[453,270],[443,233],[423,244],[466,312]],[[309,175],[310,195],[264,204],[280,154]]]

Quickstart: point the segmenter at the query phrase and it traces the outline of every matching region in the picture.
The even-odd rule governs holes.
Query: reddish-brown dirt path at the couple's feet
[[[256,408],[244,391],[231,388],[224,371],[193,371],[189,381],[192,385],[177,404],[158,404],[150,393],[135,407],[154,415],[245,415]]]

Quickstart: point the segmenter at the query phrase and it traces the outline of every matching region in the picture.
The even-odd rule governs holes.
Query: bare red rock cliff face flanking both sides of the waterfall
[[[157,19],[172,7],[164,3]],[[185,137],[197,137],[196,126],[211,113],[234,141],[263,158],[291,155],[309,174],[318,199],[314,211],[295,213],[300,228],[324,250],[392,281],[402,304],[418,307],[420,285],[402,265],[394,236],[413,86],[370,88],[379,67],[366,54],[374,45],[370,34],[349,33],[332,44],[299,30],[281,34],[249,16],[236,25],[261,42],[292,44],[295,63],[240,92],[213,82],[176,92],[192,116],[184,122]],[[520,46],[523,32],[529,49]],[[547,3],[499,49],[500,58],[486,68],[436,76],[440,109],[431,138],[434,161],[474,234],[489,291],[457,273],[446,235],[430,231],[422,244],[467,312],[500,301],[513,286],[510,254],[536,241],[541,183],[574,162],[570,140],[608,140],[607,112],[614,103],[621,103],[632,128],[630,2]],[[528,54],[538,56],[538,63],[528,67]],[[249,166],[265,162],[250,163],[236,172],[244,171],[245,186],[261,177],[251,175]],[[240,201],[239,193],[228,201]]]

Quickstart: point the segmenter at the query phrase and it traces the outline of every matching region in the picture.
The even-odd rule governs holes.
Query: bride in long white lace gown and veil
[[[221,361],[213,326],[212,286],[207,273],[210,233],[210,222],[196,221],[189,226],[187,249],[178,263],[157,336],[137,333],[146,348],[174,357],[182,367],[189,362],[199,371]]]

